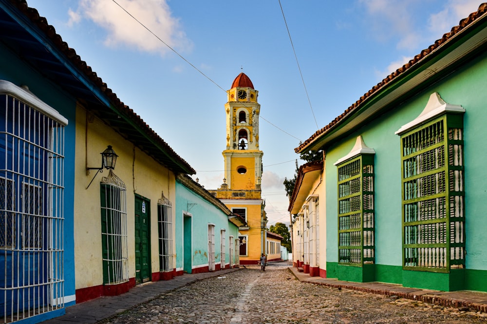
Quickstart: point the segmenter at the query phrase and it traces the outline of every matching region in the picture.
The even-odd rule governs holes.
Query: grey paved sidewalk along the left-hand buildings
[[[66,314],[43,324],[90,324],[109,318],[135,305],[150,301],[166,291],[181,288],[198,280],[222,276],[240,270],[225,269],[216,272],[183,274],[171,280],[160,280],[137,285],[130,291],[118,296],[102,296],[84,303],[66,307]]]

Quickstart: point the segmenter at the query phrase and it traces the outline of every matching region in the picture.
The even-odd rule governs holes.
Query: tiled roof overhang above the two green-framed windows
[[[481,4],[477,12],[462,19],[450,33],[375,85],[343,114],[304,141],[295,152],[325,149],[487,51],[486,13],[487,3]]]

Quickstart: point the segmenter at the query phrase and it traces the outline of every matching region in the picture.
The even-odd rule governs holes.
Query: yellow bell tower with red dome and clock
[[[261,198],[262,155],[259,150],[259,91],[240,73],[227,91],[225,179],[217,190],[208,190],[233,213],[244,217],[239,228],[240,264],[258,264],[265,253],[267,217]]]

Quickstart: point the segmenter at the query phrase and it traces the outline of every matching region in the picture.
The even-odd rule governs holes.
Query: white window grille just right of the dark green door
[[[161,272],[171,272],[173,267],[172,239],[172,204],[167,198],[159,200],[157,205],[159,228],[159,266]]]

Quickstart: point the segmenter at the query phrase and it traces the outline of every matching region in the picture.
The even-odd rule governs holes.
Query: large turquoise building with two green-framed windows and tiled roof
[[[486,13],[296,149],[326,153],[326,277],[487,291]]]

